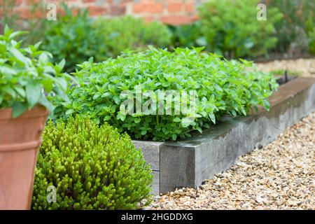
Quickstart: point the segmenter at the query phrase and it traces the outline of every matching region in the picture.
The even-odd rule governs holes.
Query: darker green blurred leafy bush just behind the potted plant
[[[90,57],[97,61],[106,59],[108,57],[106,43],[102,36],[97,35],[92,26],[92,19],[88,18],[87,10],[79,10],[75,16],[66,5],[64,7],[65,16],[60,16],[57,21],[48,21],[42,48],[52,52],[57,61],[65,58],[65,69],[68,72],[74,71],[76,64]]]

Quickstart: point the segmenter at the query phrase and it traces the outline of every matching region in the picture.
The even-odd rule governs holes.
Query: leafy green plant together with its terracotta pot
[[[52,64],[40,43],[22,48],[22,31],[0,35],[0,209],[30,209],[41,133],[50,94],[65,98],[64,60]]]

